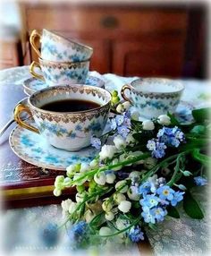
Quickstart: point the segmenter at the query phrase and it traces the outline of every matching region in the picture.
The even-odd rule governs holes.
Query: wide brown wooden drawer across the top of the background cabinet
[[[167,30],[186,30],[187,13],[185,11],[144,8],[108,8],[108,7],[30,7],[27,9],[29,30],[67,30],[78,32],[94,31],[97,37],[117,32],[130,34],[164,32]],[[121,34],[118,34],[121,37]]]

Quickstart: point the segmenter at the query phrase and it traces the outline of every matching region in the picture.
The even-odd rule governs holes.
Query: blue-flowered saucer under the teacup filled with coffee
[[[30,121],[32,124],[33,121]],[[16,126],[9,138],[11,149],[26,162],[53,170],[66,170],[75,163],[89,163],[97,154],[97,149],[88,147],[77,152],[56,149],[38,133]]]

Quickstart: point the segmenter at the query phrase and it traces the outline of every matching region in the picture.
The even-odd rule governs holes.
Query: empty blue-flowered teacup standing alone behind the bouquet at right
[[[130,90],[130,96],[125,94]],[[122,98],[130,101],[139,110],[141,116],[153,118],[173,113],[178,106],[184,86],[180,81],[163,78],[139,78],[124,85]]]

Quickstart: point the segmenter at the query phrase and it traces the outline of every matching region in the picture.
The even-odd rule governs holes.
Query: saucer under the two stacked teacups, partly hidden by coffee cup
[[[105,82],[103,80],[91,75],[88,76],[87,80],[85,81],[85,84],[105,88]],[[38,80],[34,77],[31,77],[23,81],[24,92],[28,96],[30,96],[35,91],[45,89],[46,87],[49,86],[46,84],[45,81]]]

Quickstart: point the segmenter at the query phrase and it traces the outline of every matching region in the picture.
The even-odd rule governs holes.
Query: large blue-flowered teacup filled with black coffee
[[[75,101],[82,102],[89,109],[66,111],[58,105],[62,102],[65,108],[71,104],[80,107]],[[49,107],[52,105],[54,110]],[[92,135],[99,137],[102,134],[110,107],[111,94],[102,88],[89,85],[55,86],[33,93],[28,99],[28,106],[18,105],[14,119],[21,127],[40,133],[40,140],[45,138],[55,148],[76,151],[88,147]],[[24,111],[33,116],[38,128],[21,120],[20,115]]]

